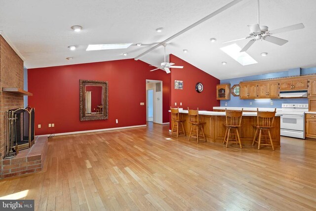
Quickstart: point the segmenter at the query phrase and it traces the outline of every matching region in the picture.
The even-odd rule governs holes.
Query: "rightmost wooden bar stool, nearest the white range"
[[[271,138],[271,128],[273,128],[275,116],[276,116],[276,109],[275,111],[270,112],[270,111],[259,111],[257,108],[257,125],[255,126],[257,129],[256,129],[255,137],[253,137],[252,146],[255,144],[255,142],[257,142],[258,149],[260,149],[260,146],[264,145],[264,146],[272,146],[272,149],[275,150],[275,147],[273,146],[273,141]],[[259,138],[258,140],[256,140],[258,132],[259,132]],[[264,144],[261,143],[261,136],[265,137]],[[270,138],[270,144],[268,144],[267,142],[267,137]]]

